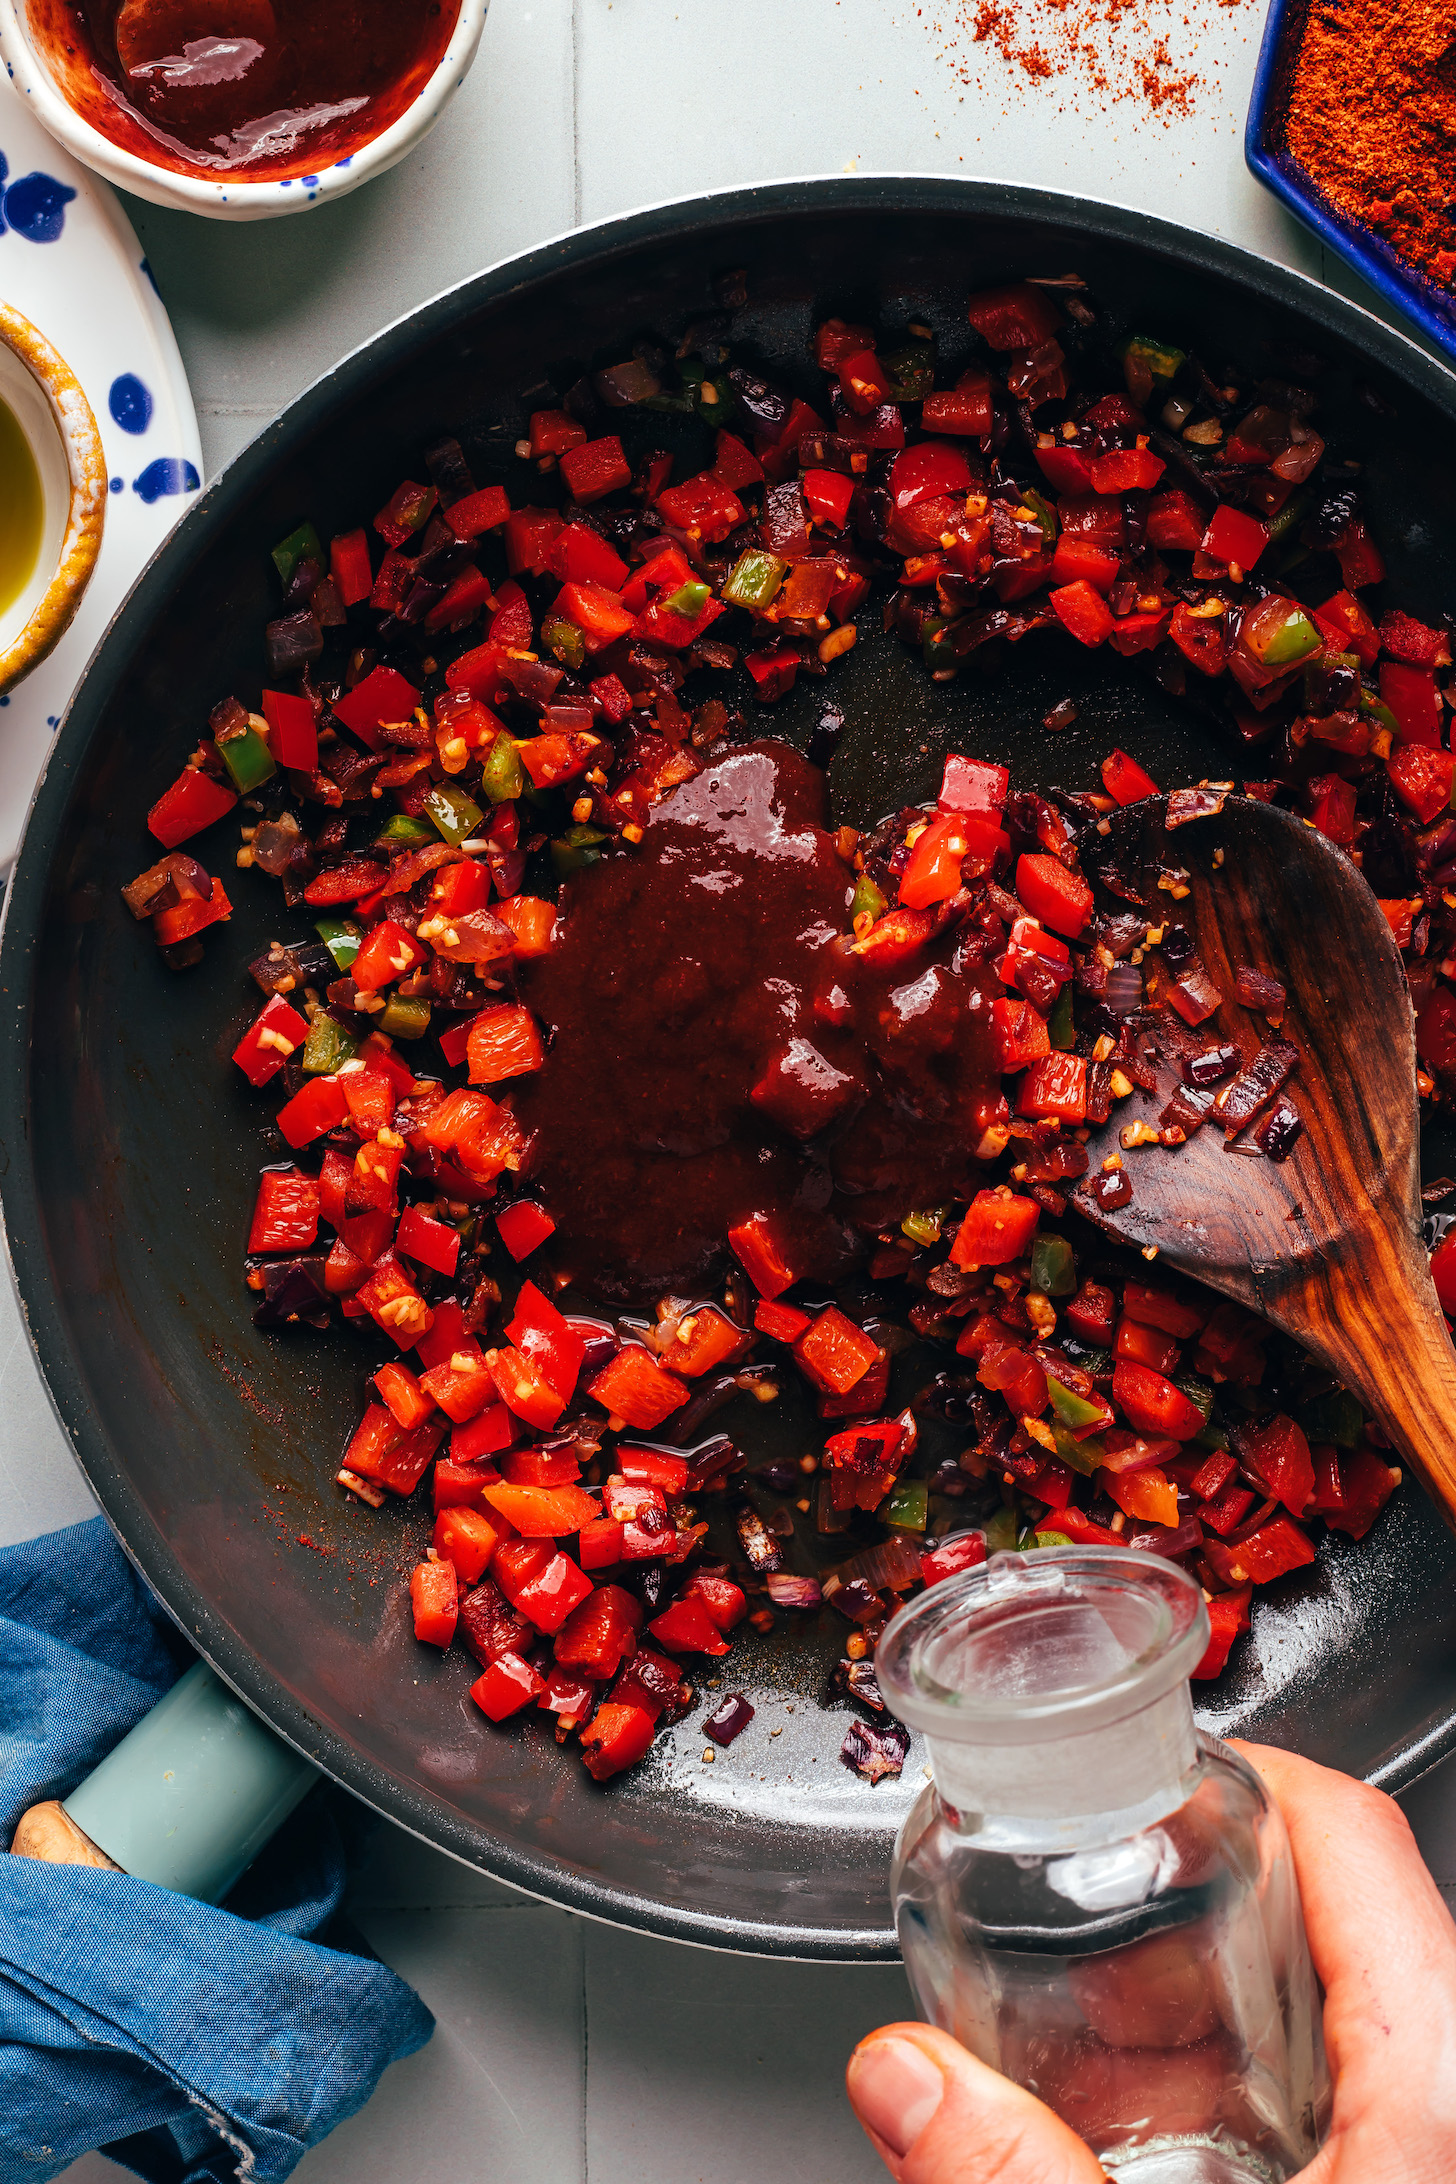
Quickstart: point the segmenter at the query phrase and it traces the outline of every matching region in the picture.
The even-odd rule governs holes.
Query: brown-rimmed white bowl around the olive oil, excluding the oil
[[[81,605],[107,520],[107,456],[70,365],[28,319],[0,304],[0,400],[41,480],[41,544],[31,581],[0,614],[0,695],[61,640]]]

